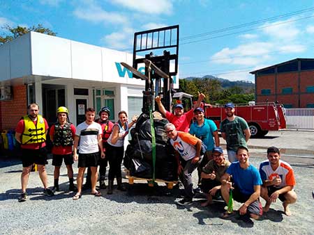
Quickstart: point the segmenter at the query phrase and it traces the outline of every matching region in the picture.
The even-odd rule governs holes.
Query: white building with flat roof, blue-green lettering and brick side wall
[[[144,81],[121,66],[133,55],[41,33],[22,35],[0,47],[0,129],[14,129],[27,105],[36,102],[52,124],[58,106],[70,122],[84,121],[87,107],[109,106],[111,120],[119,111],[140,114]],[[140,72],[144,72],[141,67]],[[174,85],[179,86],[174,79]]]

